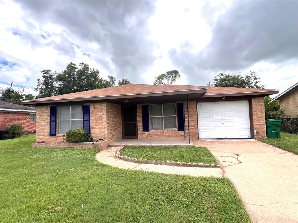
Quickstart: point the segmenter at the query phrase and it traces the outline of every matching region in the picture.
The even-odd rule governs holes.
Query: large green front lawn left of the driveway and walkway
[[[34,141],[0,142],[0,222],[251,222],[228,179],[124,170],[95,148]]]

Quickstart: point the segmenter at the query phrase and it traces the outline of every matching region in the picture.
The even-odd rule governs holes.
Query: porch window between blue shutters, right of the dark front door
[[[176,104],[150,105],[150,121],[152,129],[177,128]]]

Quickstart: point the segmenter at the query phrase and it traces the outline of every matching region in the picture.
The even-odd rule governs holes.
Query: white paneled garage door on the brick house
[[[199,102],[199,139],[250,138],[248,100]]]

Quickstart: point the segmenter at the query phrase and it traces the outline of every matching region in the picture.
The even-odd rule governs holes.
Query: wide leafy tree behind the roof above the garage
[[[213,83],[208,83],[207,86],[214,87],[244,87],[244,88],[264,88],[264,85],[260,85],[260,78],[255,75],[254,71],[246,74],[245,77],[240,75],[231,75],[218,73],[217,76],[213,78]]]

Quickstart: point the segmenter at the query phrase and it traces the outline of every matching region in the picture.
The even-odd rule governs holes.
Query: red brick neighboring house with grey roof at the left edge
[[[0,130],[23,125],[23,135],[35,133],[35,108],[0,101]]]

